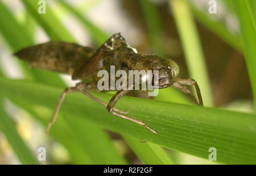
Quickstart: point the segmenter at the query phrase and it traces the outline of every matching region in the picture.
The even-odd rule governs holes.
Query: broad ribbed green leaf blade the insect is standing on
[[[63,91],[30,81],[3,78],[0,78],[0,90],[13,101],[42,105],[52,110]],[[107,93],[92,95],[105,102],[112,97]],[[104,106],[81,96],[81,93],[68,95],[60,113],[72,115],[72,118],[86,118],[88,122],[92,121],[109,130],[198,157],[208,158],[209,148],[215,147],[218,162],[256,164],[255,114],[126,96],[118,101],[116,108],[129,109],[131,117],[146,122],[158,134],[152,134],[145,127],[108,113]]]

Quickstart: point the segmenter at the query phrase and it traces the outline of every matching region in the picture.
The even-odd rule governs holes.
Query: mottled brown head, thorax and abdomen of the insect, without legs
[[[114,38],[114,39],[112,39]],[[142,55],[126,44],[121,35],[113,35],[98,50],[67,42],[46,42],[20,50],[16,55],[32,67],[72,75],[72,79],[98,81],[97,72],[115,66],[115,70],[159,70],[159,88],[174,83],[176,63],[157,55]],[[172,67],[172,68],[171,68]]]

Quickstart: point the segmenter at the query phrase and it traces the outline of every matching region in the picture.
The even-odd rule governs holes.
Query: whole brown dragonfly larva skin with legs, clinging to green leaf
[[[110,113],[138,123],[155,134],[157,133],[143,121],[126,115],[127,112],[125,111],[114,108],[119,98],[126,95],[131,90],[126,89],[118,91],[108,104],[87,92],[98,90],[97,81],[100,78],[97,77],[97,73],[100,70],[106,70],[110,73],[110,66],[115,66],[115,70],[125,70],[127,75],[129,75],[129,70],[151,70],[153,77],[154,71],[157,70],[159,72],[159,88],[176,87],[191,96],[197,105],[203,106],[200,89],[196,81],[192,79],[177,79],[176,76],[179,74],[179,66],[177,66],[174,61],[170,58],[162,58],[157,55],[138,54],[134,48],[127,45],[125,38],[123,38],[120,33],[110,37],[97,50],[67,42],[47,42],[45,44],[22,49],[15,55],[33,67],[71,74],[74,80],[86,80],[77,83],[75,87],[65,89],[56,106],[52,121],[47,127],[47,132],[53,122],[55,122],[65,95],[72,92],[81,92],[92,100],[106,106],[106,109]],[[184,85],[195,85],[198,101]]]

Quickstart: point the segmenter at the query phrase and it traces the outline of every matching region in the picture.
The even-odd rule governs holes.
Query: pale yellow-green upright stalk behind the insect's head
[[[189,75],[199,84],[204,104],[212,106],[212,91],[207,66],[191,9],[184,0],[170,0],[169,2],[183,45]]]

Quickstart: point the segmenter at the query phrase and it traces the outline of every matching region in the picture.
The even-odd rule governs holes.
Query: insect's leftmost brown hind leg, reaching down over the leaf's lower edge
[[[72,92],[77,92],[79,91],[76,87],[68,87],[65,89],[65,91],[61,94],[60,96],[60,99],[57,103],[57,106],[55,108],[55,111],[52,115],[52,119],[51,119],[51,122],[48,123],[48,126],[47,126],[47,129],[46,129],[46,133],[49,134],[49,129],[51,128],[51,126],[53,125],[53,123],[56,121],[56,117],[57,117],[57,114],[60,110],[60,106],[65,98],[65,96],[67,95],[67,93],[72,93]]]

